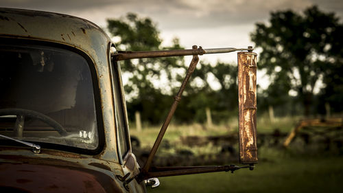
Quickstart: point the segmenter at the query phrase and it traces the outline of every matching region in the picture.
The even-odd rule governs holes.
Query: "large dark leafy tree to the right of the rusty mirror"
[[[332,59],[333,47],[342,50],[342,41],[339,45],[335,43],[342,39],[342,34],[336,32],[342,24],[335,14],[321,12],[316,6],[307,8],[303,14],[286,10],[272,12],[270,16],[268,25],[257,23],[257,29],[251,34],[256,47],[262,49],[259,68],[266,69],[270,76],[270,97],[278,91],[283,93],[275,98],[294,93],[303,103],[307,116],[315,89],[324,86],[320,83],[326,82],[327,71],[342,60],[340,54],[335,54],[338,60]]]

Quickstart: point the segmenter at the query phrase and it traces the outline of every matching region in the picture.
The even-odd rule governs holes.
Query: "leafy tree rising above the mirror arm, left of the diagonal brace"
[[[162,40],[156,25],[149,18],[140,18],[129,13],[125,18],[108,19],[108,30],[117,37],[120,50],[147,51],[158,49],[183,49],[175,38],[171,47],[161,47]],[[182,57],[143,58],[124,60],[123,76],[128,77],[124,85],[128,98],[129,116],[141,111],[144,121],[156,124],[163,120],[171,104],[171,93],[180,82],[178,69],[185,69]],[[164,81],[164,82],[161,82]],[[130,117],[133,120],[134,117]]]

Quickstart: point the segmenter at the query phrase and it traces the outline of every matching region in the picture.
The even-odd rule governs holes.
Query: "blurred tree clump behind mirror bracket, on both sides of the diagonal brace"
[[[125,18],[108,19],[107,22],[109,32],[118,39],[116,44],[122,51],[184,49],[177,38],[170,47],[161,47],[162,39],[149,18],[130,13]],[[150,124],[161,123],[185,78],[188,65],[185,65],[183,57],[123,61],[122,73],[128,77],[124,88],[129,95],[127,106],[130,120],[134,119],[135,111],[141,111],[141,120]],[[214,76],[220,83],[219,90],[211,88],[207,81],[209,76]],[[199,63],[185,89],[175,118],[179,122],[203,122],[206,120],[206,108],[220,113],[237,109],[236,78],[237,66],[217,63],[212,67],[209,63]],[[228,115],[222,117],[227,119]]]

